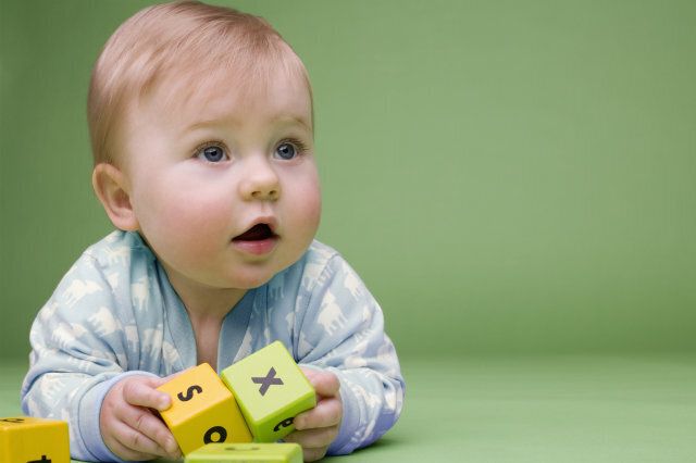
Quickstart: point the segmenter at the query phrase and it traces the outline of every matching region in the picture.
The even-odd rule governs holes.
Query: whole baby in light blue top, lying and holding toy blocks
[[[37,315],[24,412],[67,421],[75,459],[176,459],[156,388],[281,340],[318,395],[285,439],[304,460],[387,431],[399,363],[376,301],[314,240],[312,95],[282,37],[226,8],[145,9],[105,43],[88,117],[92,185],[117,230]]]

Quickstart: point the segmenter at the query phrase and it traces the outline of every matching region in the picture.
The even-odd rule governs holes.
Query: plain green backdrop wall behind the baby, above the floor
[[[0,2],[4,358],[26,359],[37,310],[111,229],[87,85],[149,3]],[[307,64],[319,238],[402,359],[696,350],[696,2],[225,4]]]

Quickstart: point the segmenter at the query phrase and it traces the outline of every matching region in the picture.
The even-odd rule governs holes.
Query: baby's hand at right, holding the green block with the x
[[[295,416],[296,430],[284,440],[302,446],[304,461],[313,462],[326,454],[326,449],[338,435],[344,406],[336,375],[312,368],[302,368],[302,372],[316,390],[316,406]]]

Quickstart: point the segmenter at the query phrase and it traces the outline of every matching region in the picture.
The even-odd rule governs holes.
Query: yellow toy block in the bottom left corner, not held
[[[67,423],[16,416],[0,418],[0,462],[70,463]]]

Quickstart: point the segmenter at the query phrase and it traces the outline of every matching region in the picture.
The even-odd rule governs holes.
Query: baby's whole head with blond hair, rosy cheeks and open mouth
[[[175,287],[259,286],[313,239],[311,89],[265,21],[198,2],[140,11],[97,61],[88,117],[97,196]]]

